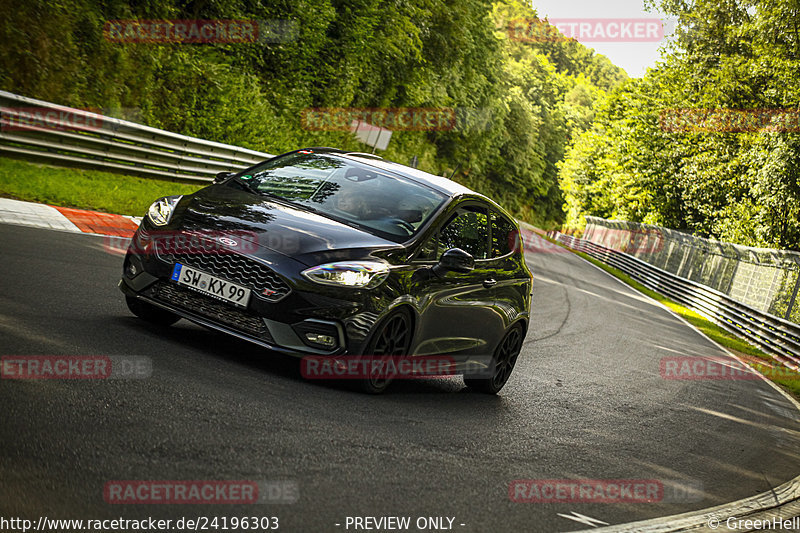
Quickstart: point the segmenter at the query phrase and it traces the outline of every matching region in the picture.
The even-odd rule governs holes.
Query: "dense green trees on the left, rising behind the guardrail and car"
[[[509,39],[509,20],[535,15],[522,0],[26,0],[3,13],[0,88],[271,153],[369,149],[349,132],[304,129],[307,108],[456,109],[455,129],[395,132],[382,155],[456,172],[543,225],[564,216],[556,164],[570,137],[626,79],[577,42]],[[291,31],[282,42],[120,44],[103,35],[120,19]]]

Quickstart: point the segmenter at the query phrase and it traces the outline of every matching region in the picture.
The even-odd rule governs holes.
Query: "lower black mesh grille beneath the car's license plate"
[[[150,296],[180,309],[210,318],[231,329],[247,333],[265,342],[273,343],[272,335],[270,335],[266,324],[260,317],[247,311],[235,309],[211,297],[165,281],[157,282],[153,286]]]

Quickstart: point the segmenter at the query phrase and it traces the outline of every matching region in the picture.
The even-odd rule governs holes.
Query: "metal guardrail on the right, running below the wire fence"
[[[676,276],[641,259],[562,233],[567,247],[617,268],[648,289],[667,296],[770,354],[793,370],[800,369],[800,325],[759,311],[715,289]]]

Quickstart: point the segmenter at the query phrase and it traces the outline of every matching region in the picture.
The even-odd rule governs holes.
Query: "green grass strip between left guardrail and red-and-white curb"
[[[156,198],[201,187],[0,157],[0,196],[62,207],[142,216]]]

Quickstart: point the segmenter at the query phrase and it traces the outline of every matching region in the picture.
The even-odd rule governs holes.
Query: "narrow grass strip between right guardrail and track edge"
[[[684,320],[689,322],[691,325],[702,331],[705,335],[709,338],[714,340],[715,342],[719,343],[720,345],[724,346],[725,348],[729,349],[734,354],[740,356],[742,360],[750,365],[755,370],[761,372],[764,376],[767,377],[773,383],[778,384],[781,388],[791,394],[794,398],[800,400],[800,374],[794,372],[791,369],[784,368],[780,363],[777,363],[770,355],[764,353],[759,348],[753,346],[752,344],[742,340],[735,335],[732,335],[728,331],[722,329],[718,325],[714,324],[707,318],[699,315],[695,311],[692,311],[688,307],[681,305],[673,300],[670,300],[666,296],[663,296],[651,289],[648,289],[635,279],[631,278],[629,275],[625,274],[621,270],[614,268],[612,266],[606,265],[602,261],[598,261],[594,257],[584,253],[578,252],[576,250],[572,250],[562,243],[557,242],[552,239],[547,239],[550,242],[561,246],[562,248],[566,248],[567,250],[571,251],[572,253],[586,259],[593,265],[598,266],[599,268],[605,270],[612,276],[620,279],[627,285],[630,285],[637,291],[653,298],[654,300],[660,302],[671,311],[673,311],[676,315],[682,317]],[[759,360],[763,361],[763,364],[759,362]]]

